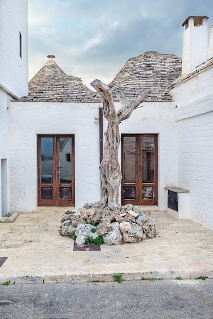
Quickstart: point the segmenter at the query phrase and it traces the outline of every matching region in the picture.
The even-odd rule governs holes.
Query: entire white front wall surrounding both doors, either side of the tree
[[[75,135],[76,207],[100,199],[99,103],[11,102],[9,116],[9,210],[37,208],[37,135]],[[120,108],[119,103],[116,104]],[[171,103],[144,103],[120,125],[121,134],[158,134],[158,202],[167,207],[165,185],[176,183],[176,147]],[[104,123],[106,127],[106,122]],[[120,154],[121,158],[121,154]],[[169,161],[168,161],[169,158]]]

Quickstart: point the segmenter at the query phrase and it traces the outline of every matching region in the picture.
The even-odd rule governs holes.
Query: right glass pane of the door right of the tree
[[[143,137],[142,139],[142,180],[143,183],[154,182],[155,156],[154,137]]]

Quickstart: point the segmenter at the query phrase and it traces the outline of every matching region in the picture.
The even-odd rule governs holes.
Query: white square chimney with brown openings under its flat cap
[[[182,75],[208,60],[208,29],[206,16],[190,16],[183,22]]]

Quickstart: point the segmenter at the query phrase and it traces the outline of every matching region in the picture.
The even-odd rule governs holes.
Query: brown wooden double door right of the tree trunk
[[[157,135],[122,135],[122,205],[157,205]]]

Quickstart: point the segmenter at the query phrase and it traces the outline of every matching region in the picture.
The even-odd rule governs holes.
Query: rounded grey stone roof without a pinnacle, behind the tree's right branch
[[[127,98],[137,97],[146,90],[146,101],[172,101],[168,87],[181,76],[182,59],[174,55],[145,52],[129,59],[109,84],[114,100],[123,92]]]

